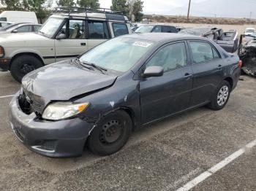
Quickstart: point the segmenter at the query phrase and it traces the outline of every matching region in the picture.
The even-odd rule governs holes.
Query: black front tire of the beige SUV
[[[42,66],[42,61],[33,55],[20,55],[12,61],[10,71],[12,77],[21,82],[26,74]]]

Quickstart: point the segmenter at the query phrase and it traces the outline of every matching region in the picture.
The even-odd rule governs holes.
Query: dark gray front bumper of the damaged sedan
[[[56,122],[24,114],[15,96],[10,102],[10,123],[15,136],[29,149],[48,157],[75,157],[83,148],[93,125],[74,118]]]

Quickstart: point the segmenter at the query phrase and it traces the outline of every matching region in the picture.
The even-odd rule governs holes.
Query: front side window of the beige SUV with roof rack
[[[65,34],[66,39],[86,39],[85,28],[84,20],[68,20],[59,31],[59,34]]]

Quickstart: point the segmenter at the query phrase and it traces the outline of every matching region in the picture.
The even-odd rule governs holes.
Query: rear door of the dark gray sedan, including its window
[[[222,81],[223,61],[215,47],[204,41],[189,41],[192,55],[193,90],[190,106],[211,100]]]

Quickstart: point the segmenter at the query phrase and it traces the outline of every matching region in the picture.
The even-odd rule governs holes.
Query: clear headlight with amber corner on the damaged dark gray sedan
[[[56,102],[46,107],[42,113],[42,118],[45,120],[63,120],[83,112],[88,106],[89,103]]]

